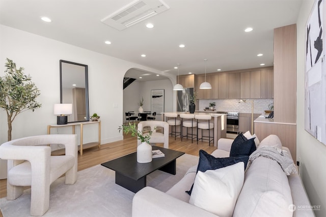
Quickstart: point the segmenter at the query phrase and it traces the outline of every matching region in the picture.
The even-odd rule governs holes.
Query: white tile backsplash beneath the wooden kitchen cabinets
[[[254,113],[263,114],[264,110],[269,110],[268,105],[273,103],[273,99],[247,99],[248,101],[254,101]],[[205,107],[209,106],[209,103],[215,102],[216,111],[237,111],[240,113],[251,113],[251,102],[241,102],[239,100],[199,100],[199,109],[204,111]]]

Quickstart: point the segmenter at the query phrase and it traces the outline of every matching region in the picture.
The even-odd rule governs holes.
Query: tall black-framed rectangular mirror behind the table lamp
[[[87,65],[60,60],[60,102],[72,104],[68,122],[89,121]]]

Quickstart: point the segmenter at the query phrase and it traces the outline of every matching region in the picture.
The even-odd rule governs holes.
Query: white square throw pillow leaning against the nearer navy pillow
[[[244,180],[243,162],[198,171],[189,203],[221,217],[232,216]]]

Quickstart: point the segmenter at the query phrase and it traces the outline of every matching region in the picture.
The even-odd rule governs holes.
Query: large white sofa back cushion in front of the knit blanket
[[[280,165],[257,158],[245,174],[233,216],[292,216],[291,204],[289,182]]]

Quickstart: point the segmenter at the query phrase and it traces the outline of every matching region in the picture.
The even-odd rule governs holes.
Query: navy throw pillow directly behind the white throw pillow
[[[223,167],[231,166],[233,164],[243,162],[244,170],[247,167],[247,163],[249,160],[249,156],[241,156],[241,157],[229,157],[229,158],[215,158],[204,150],[199,150],[199,163],[197,167],[197,172],[205,172],[206,170],[216,170]],[[196,174],[197,174],[196,172]],[[194,184],[189,191],[186,191],[188,195],[192,194]]]

